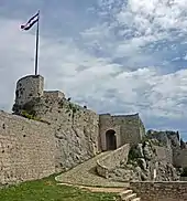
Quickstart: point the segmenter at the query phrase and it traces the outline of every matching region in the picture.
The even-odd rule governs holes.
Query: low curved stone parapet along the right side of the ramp
[[[128,161],[130,145],[123,145],[117,150],[97,161],[97,172],[99,176],[108,178],[109,171],[120,165],[121,161]]]

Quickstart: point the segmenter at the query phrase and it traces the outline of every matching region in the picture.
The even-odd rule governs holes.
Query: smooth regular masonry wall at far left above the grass
[[[54,173],[55,152],[48,125],[0,112],[0,184]]]

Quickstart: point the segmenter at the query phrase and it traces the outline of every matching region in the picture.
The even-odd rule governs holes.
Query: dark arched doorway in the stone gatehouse
[[[106,133],[106,144],[107,144],[107,150],[117,149],[117,137],[114,130],[108,130]]]

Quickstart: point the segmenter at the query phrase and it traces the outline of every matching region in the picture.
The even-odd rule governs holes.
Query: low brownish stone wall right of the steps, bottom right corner
[[[142,201],[187,201],[187,182],[131,182]]]

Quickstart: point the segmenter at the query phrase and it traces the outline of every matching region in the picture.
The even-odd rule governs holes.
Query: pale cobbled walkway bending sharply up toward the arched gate
[[[95,158],[89,159],[88,161],[78,165],[72,170],[62,173],[56,177],[56,180],[62,184],[74,184],[74,186],[85,186],[85,187],[107,187],[107,188],[125,188],[129,187],[129,183],[125,182],[116,182],[99,177],[96,173],[96,163],[97,160],[101,157],[108,155],[109,151],[102,152]]]

